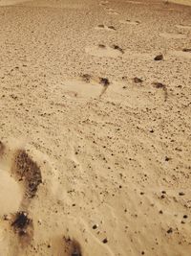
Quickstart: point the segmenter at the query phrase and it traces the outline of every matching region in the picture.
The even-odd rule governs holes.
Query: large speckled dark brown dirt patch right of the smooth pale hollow
[[[26,151],[18,151],[14,160],[14,173],[19,176],[25,184],[25,196],[33,198],[38,185],[42,183],[42,176],[39,167]]]

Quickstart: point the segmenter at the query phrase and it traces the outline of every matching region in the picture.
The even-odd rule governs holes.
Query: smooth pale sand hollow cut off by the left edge
[[[21,200],[19,184],[8,172],[0,169],[0,216],[17,211]]]

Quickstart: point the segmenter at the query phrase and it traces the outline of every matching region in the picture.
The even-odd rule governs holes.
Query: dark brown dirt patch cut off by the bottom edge
[[[68,256],[82,256],[80,244],[71,238],[64,237],[65,252]]]

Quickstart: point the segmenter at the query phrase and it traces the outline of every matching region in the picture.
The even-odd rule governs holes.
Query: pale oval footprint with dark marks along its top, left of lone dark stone
[[[103,58],[117,58],[124,54],[124,51],[117,45],[107,46],[99,44],[97,46],[87,47],[85,51],[89,55]]]

